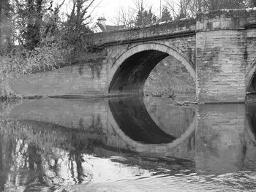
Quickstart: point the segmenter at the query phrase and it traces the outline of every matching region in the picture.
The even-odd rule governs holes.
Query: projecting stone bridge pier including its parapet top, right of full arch
[[[255,11],[252,9],[223,10],[197,17],[198,101],[245,101],[246,71],[255,55],[253,42],[247,47],[247,35],[254,36],[254,30],[248,30],[253,23]]]

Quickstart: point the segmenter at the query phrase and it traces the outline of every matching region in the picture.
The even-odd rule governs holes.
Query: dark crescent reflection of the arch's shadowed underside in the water
[[[110,100],[109,105],[118,127],[132,140],[144,143],[168,143],[176,139],[162,131],[152,120],[143,99],[115,99]]]

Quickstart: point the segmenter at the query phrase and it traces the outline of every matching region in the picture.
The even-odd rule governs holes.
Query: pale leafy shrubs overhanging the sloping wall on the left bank
[[[72,46],[54,37],[42,39],[34,50],[15,47],[8,55],[0,56],[0,97],[15,97],[9,82],[20,74],[56,69],[67,62],[64,55],[72,53]]]

